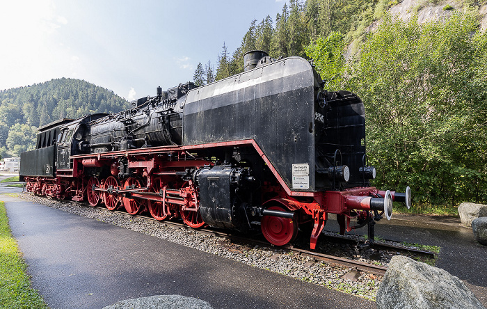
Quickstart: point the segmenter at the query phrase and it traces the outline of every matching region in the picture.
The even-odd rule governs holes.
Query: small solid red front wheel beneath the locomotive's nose
[[[269,209],[287,211],[287,209],[279,206],[272,206]],[[295,221],[278,216],[263,216],[260,221],[260,228],[267,241],[276,246],[284,246],[289,243],[298,232],[298,224]]]

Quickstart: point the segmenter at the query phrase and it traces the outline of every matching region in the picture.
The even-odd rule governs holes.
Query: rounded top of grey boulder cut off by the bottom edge
[[[211,309],[206,301],[181,295],[155,295],[118,301],[103,309]]]

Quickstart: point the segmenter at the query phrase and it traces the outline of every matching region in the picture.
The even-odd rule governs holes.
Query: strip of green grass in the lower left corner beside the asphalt
[[[5,204],[0,202],[0,308],[48,308],[31,287],[26,267],[10,232]]]

